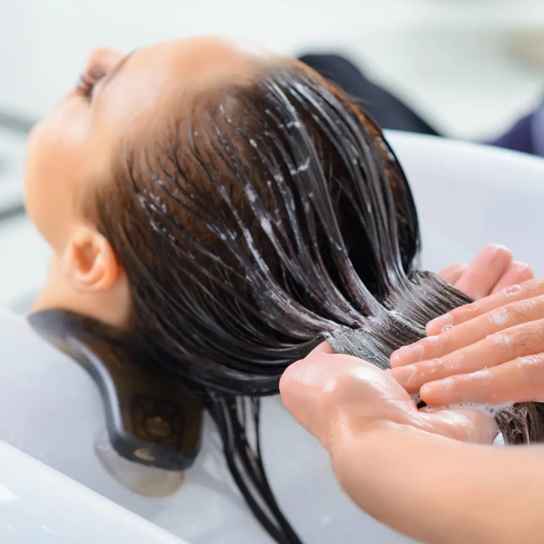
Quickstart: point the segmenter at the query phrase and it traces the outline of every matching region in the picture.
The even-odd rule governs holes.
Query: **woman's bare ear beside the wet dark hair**
[[[73,233],[60,264],[65,279],[83,292],[107,290],[121,274],[108,240],[89,227],[81,227]]]

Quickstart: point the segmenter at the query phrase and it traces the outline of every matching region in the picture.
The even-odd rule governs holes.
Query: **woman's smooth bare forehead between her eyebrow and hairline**
[[[250,82],[274,58],[257,47],[219,38],[142,48],[98,89],[91,122],[97,144],[145,137],[172,116],[183,116],[184,108],[190,108],[188,97],[195,92]]]

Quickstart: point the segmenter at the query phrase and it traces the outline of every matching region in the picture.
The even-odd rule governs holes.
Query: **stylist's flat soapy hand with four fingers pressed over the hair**
[[[426,331],[393,353],[398,368],[387,373],[427,404],[544,401],[544,278],[455,308]]]

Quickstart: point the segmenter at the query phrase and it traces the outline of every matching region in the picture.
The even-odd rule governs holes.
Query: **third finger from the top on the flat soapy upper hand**
[[[444,357],[393,368],[386,372],[409,393],[424,384],[496,367],[516,357],[544,352],[544,319],[523,323],[454,351]]]

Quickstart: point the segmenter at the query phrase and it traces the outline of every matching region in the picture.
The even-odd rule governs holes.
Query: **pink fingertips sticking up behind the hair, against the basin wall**
[[[451,264],[438,273],[443,280],[478,300],[505,287],[534,277],[526,263],[514,261],[512,252],[503,245],[486,245],[471,264]]]

